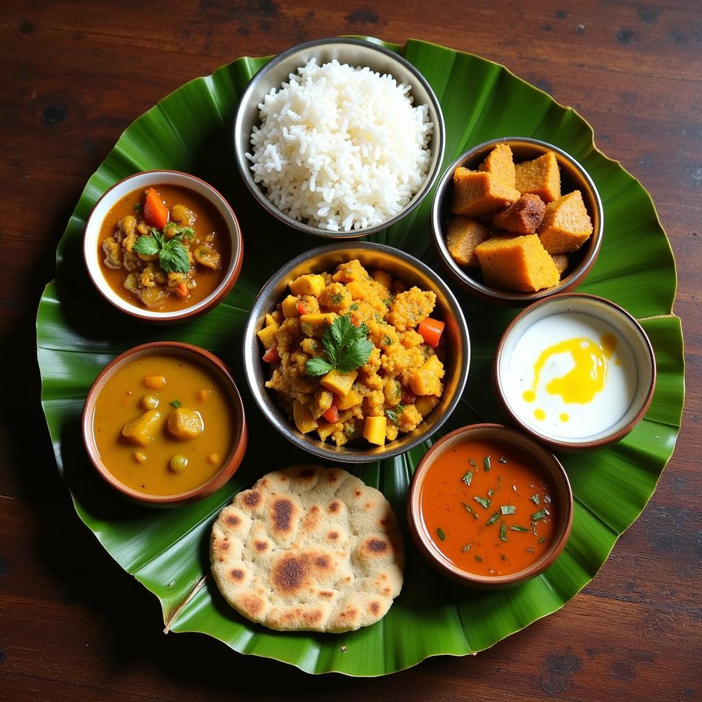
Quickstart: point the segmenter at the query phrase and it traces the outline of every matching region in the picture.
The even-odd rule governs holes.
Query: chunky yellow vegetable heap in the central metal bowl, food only
[[[444,390],[436,293],[358,260],[302,275],[258,331],[267,388],[300,432],[382,446],[415,430]]]

